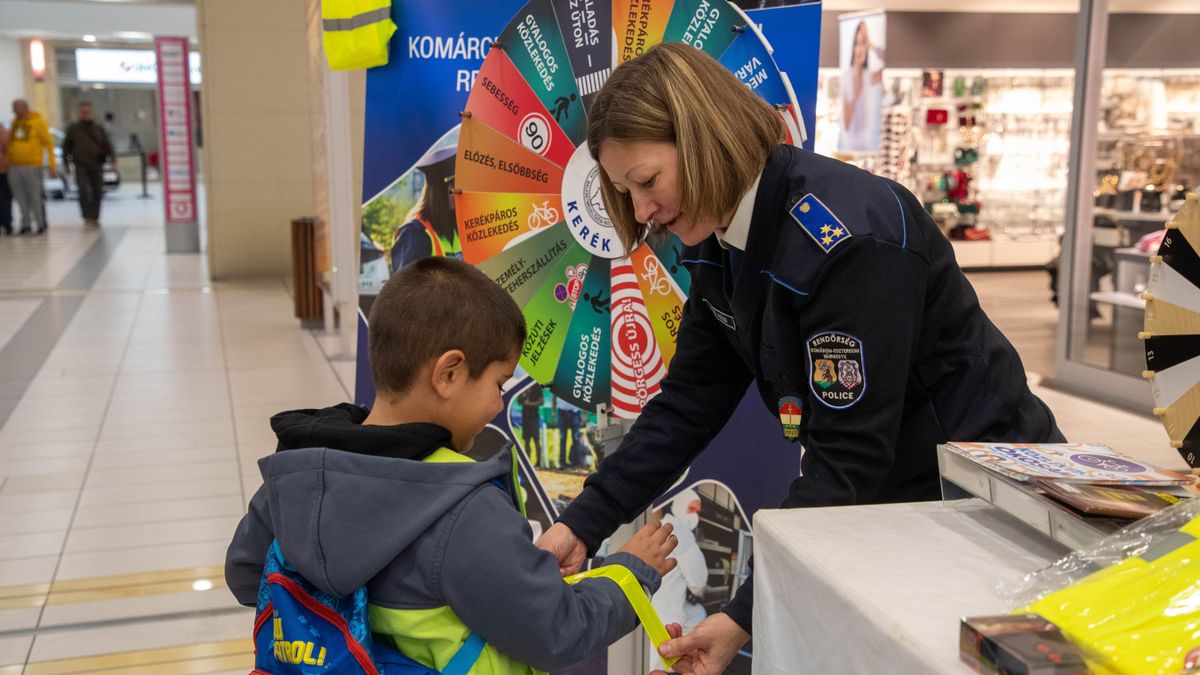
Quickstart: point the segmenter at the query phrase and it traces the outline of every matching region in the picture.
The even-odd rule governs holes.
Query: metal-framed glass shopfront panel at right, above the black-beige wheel
[[[1108,0],[1084,0],[1080,22],[1086,82],[1075,92],[1074,227],[1060,275],[1070,301],[1060,322],[1057,380],[1148,412],[1139,331],[1150,258],[1186,193],[1200,184],[1200,47],[1175,40],[1174,31],[1200,29],[1200,14],[1110,13]],[[1129,49],[1130,26],[1152,29],[1136,50]]]

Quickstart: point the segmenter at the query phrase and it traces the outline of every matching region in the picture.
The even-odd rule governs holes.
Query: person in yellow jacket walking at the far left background
[[[42,115],[29,109],[24,98],[12,102],[13,120],[8,133],[8,186],[12,189],[17,204],[20,205],[20,234],[34,232],[30,225],[37,223],[37,234],[46,234],[46,208],[42,203],[42,163],[49,157],[50,178],[58,175],[58,163],[54,160],[54,142],[50,129],[46,126]]]

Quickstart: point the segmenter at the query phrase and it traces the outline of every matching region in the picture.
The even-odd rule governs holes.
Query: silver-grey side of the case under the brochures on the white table
[[[1086,548],[1124,525],[1110,518],[1079,515],[1039,495],[1032,486],[988,471],[946,446],[937,447],[937,467],[942,474],[944,500],[973,495],[1074,550]]]

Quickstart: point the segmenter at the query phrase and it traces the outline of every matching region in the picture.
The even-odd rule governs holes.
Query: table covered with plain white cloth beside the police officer
[[[760,510],[754,673],[970,673],[959,621],[1067,552],[980,500]]]

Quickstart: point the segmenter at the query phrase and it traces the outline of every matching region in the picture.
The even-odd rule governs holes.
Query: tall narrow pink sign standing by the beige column
[[[167,223],[197,222],[196,150],[186,37],[156,37],[160,171]]]

